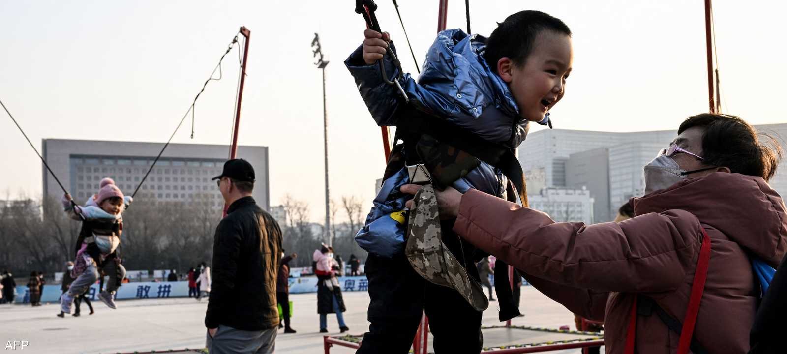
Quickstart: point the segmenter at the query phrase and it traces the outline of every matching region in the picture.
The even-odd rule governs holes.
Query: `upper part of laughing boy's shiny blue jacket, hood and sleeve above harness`
[[[405,73],[400,83],[416,108],[513,149],[525,139],[527,120],[519,116],[508,85],[480,55],[485,46],[486,38],[481,35],[467,35],[460,29],[442,31],[429,48],[418,82]],[[396,51],[393,43],[391,49]],[[398,69],[390,57],[384,61],[386,75],[397,76]],[[398,90],[382,81],[379,65],[366,65],[363,46],[350,54],[345,65],[375,122],[379,126],[396,126]],[[488,107],[503,114],[485,116],[483,112]],[[549,113],[539,124],[549,124]]]

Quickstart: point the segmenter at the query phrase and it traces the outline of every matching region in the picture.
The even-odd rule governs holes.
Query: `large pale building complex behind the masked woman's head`
[[[787,124],[755,128],[787,146]],[[676,135],[677,131],[536,131],[519,146],[527,192],[536,196],[545,188],[586,187],[594,201],[593,222],[611,221],[620,205],[644,194],[642,167]],[[787,193],[787,159],[781,160],[770,186],[780,194]]]

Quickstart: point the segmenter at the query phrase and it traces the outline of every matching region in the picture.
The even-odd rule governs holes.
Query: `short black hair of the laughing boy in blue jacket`
[[[483,57],[493,72],[497,73],[497,61],[509,57],[515,65],[525,65],[533,52],[536,37],[542,31],[552,31],[571,37],[571,29],[556,17],[541,11],[526,10],[514,13],[497,24],[489,39]]]

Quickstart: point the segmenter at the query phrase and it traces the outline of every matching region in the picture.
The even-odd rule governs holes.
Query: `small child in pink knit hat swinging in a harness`
[[[109,308],[117,308],[114,295],[126,270],[120,264],[116,251],[123,232],[122,214],[131,203],[131,197],[125,197],[112,179],[103,179],[100,186],[101,190],[85,206],[74,204],[70,194],[63,196],[63,208],[68,216],[82,220],[76,242],[76,260],[71,271],[75,280],[61,297],[61,311],[64,313],[71,313],[74,298],[96,282],[99,269],[109,275],[109,282],[98,299]]]

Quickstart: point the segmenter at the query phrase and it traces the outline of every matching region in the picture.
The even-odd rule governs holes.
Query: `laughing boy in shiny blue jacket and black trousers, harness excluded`
[[[483,142],[486,150],[490,147],[512,154],[524,140],[528,122],[551,126],[549,109],[563,98],[573,60],[569,28],[561,20],[538,11],[521,11],[509,16],[488,39],[458,29],[442,31],[427,53],[418,81],[409,74],[400,80],[409,100],[405,104],[398,89],[382,81],[379,66],[375,65],[382,60],[386,64],[386,76],[399,75],[393,62],[384,55],[387,46],[395,50],[389,36],[366,30],[364,37],[363,45],[350,55],[345,65],[353,74],[375,122],[397,126],[397,135],[400,130],[409,131],[408,137],[403,138],[404,146],[393,150],[386,179],[397,178],[396,171],[401,171],[402,164],[419,162],[414,152],[422,150],[412,147],[419,140],[419,132],[412,135],[412,125],[421,127],[422,120],[430,120],[428,127],[432,131],[456,131],[478,139],[457,146],[471,154],[484,153],[475,142]],[[460,145],[462,140],[467,139],[453,143]],[[478,167],[461,175],[453,186],[459,184],[464,190],[475,188],[498,197],[504,197],[507,188],[510,193],[504,171],[498,165],[490,166],[490,160],[479,159]],[[521,176],[521,168],[519,173]],[[389,181],[386,183],[392,184]],[[396,188],[388,196],[379,195],[375,208],[386,199],[401,197]],[[517,192],[525,194],[524,190]],[[376,218],[387,217],[380,216],[379,211],[375,213],[375,208],[364,227],[367,231]],[[478,271],[471,262],[479,258],[477,250],[455,237],[452,227],[453,220],[442,222],[443,243],[458,255],[457,259],[466,260],[467,274],[478,280]],[[480,352],[482,312],[472,308],[453,289],[420,278],[400,250],[370,252],[365,271],[371,297],[368,309],[371,325],[358,353],[408,352],[424,309],[430,319],[435,352]]]

